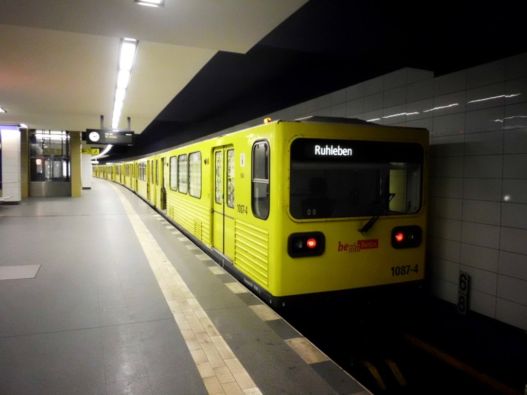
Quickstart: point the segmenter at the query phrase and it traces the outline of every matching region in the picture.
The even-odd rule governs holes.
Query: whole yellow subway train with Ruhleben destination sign
[[[428,131],[276,121],[93,174],[155,206],[272,307],[424,280]]]

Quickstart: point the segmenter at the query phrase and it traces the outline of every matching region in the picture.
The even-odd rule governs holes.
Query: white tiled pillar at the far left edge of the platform
[[[1,126],[0,126],[1,128]],[[9,202],[22,200],[20,179],[20,132],[2,129],[2,195],[11,196]]]

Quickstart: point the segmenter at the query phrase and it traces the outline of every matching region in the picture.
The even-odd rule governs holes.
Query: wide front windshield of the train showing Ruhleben
[[[423,157],[416,143],[297,139],[290,213],[296,219],[414,214],[421,208]]]

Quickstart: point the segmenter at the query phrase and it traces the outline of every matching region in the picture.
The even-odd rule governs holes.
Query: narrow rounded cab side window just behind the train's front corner
[[[258,218],[269,216],[269,143],[259,141],[252,147],[252,213]]]

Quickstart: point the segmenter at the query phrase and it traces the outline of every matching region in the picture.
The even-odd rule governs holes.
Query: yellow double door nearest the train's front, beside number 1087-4
[[[213,157],[213,246],[234,260],[234,148],[232,145],[216,147],[213,151]]]

